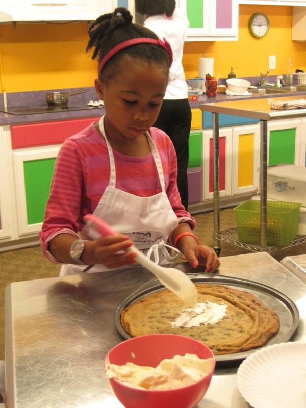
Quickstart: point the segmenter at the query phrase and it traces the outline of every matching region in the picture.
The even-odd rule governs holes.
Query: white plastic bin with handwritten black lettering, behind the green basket
[[[306,207],[306,167],[278,164],[268,168],[268,198]]]

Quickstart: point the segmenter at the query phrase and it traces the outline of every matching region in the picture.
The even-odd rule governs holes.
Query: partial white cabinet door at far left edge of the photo
[[[10,130],[0,127],[0,243],[14,238],[12,183],[10,176]]]

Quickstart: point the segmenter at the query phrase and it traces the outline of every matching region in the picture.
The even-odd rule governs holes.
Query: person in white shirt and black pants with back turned
[[[188,20],[175,7],[175,0],[135,0],[135,9],[147,19],[145,27],[161,39],[166,38],[173,52],[169,83],[162,108],[154,126],[169,135],[177,156],[177,187],[182,203],[188,207],[188,139],[191,126],[191,109],[188,102],[188,86],[182,65],[183,47]]]

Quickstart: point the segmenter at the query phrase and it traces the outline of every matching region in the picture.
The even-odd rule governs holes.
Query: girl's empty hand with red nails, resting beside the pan
[[[190,245],[185,249],[184,255],[193,268],[205,266],[206,272],[215,272],[220,266],[216,252],[206,245]]]

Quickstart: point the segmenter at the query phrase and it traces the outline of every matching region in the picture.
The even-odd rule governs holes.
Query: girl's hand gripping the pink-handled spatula
[[[90,264],[103,264],[110,269],[135,264],[136,253],[127,251],[132,245],[132,241],[124,235],[105,236],[87,241],[82,261],[88,263],[87,259],[90,258]]]

